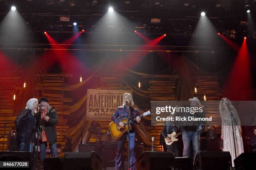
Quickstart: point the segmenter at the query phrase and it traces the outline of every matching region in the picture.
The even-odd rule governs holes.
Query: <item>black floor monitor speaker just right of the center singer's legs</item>
[[[137,170],[170,170],[173,167],[172,152],[143,152],[136,160]]]

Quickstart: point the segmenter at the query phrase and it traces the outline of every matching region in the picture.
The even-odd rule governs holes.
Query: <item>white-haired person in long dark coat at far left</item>
[[[22,110],[15,119],[17,138],[15,142],[16,151],[32,151],[35,143],[36,117],[38,100],[30,99],[26,109]]]

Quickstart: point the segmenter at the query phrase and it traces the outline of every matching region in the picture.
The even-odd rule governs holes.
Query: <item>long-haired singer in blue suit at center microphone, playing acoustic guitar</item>
[[[123,106],[118,107],[116,109],[115,114],[112,116],[112,120],[119,124],[120,127],[124,127],[124,123],[120,122],[124,117],[128,117],[129,119],[133,119],[136,117],[135,121],[131,123],[131,130],[129,135],[129,144],[130,144],[130,170],[135,170],[135,132],[134,132],[134,123],[140,124],[141,119],[138,116],[138,109],[133,107],[133,98],[131,94],[125,93],[123,94]],[[125,144],[125,139],[127,137],[127,132],[123,134],[122,137],[118,139],[118,148],[115,157],[115,170],[121,170],[123,167],[123,146]]]

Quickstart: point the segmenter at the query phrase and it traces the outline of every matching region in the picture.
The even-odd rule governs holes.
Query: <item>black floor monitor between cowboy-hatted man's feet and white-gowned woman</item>
[[[198,152],[194,160],[195,170],[230,170],[231,167],[230,152]]]

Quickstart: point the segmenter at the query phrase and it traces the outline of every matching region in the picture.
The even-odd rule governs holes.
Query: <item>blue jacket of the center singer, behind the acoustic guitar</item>
[[[137,116],[138,116],[138,109],[131,107],[131,119]],[[119,106],[116,109],[115,114],[113,114],[111,118],[116,124],[119,124],[120,120],[123,119],[124,117],[127,117],[126,106]],[[135,122],[137,123],[136,119],[135,119]],[[131,124],[134,125],[134,122],[132,122]]]

